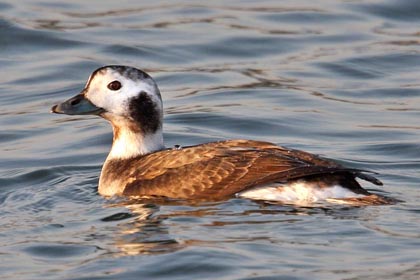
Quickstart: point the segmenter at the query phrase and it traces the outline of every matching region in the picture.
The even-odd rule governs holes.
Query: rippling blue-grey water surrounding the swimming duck
[[[418,279],[418,1],[85,2],[0,3],[3,279]],[[272,141],[404,202],[104,199],[109,125],[49,109],[105,64],[155,77],[168,146]]]

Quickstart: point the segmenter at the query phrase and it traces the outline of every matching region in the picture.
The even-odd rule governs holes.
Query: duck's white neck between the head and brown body
[[[133,158],[165,148],[162,128],[147,134],[128,122],[112,122],[112,128],[114,139],[107,160]]]

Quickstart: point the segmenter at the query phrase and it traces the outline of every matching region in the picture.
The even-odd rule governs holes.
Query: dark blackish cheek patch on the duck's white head
[[[137,97],[130,99],[128,110],[130,117],[139,124],[144,134],[155,133],[161,127],[160,113],[146,92],[142,91]]]

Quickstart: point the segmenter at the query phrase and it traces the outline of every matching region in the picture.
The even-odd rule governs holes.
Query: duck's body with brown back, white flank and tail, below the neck
[[[229,140],[107,160],[99,193],[211,200],[236,195],[297,204],[336,198],[350,203],[348,198],[370,195],[357,176],[380,184],[359,170],[309,153]]]

